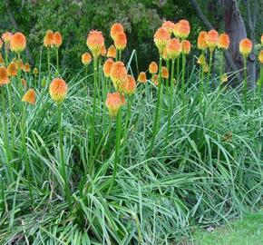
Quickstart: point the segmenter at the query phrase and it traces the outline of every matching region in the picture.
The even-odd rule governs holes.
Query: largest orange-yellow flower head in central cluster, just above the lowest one
[[[122,62],[115,62],[112,64],[110,77],[114,88],[120,92],[127,83],[127,70],[125,65]]]

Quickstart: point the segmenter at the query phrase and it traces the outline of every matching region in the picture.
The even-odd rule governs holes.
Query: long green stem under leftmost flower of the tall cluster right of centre
[[[160,56],[160,62],[159,62],[159,75],[158,75],[158,93],[157,93],[157,104],[155,107],[155,116],[153,121],[153,128],[152,128],[152,135],[151,135],[151,142],[150,142],[150,148],[149,148],[149,154],[152,152],[153,143],[155,142],[155,136],[158,131],[158,125],[159,125],[159,113],[160,113],[160,104],[161,104],[161,65],[162,65],[162,57]]]

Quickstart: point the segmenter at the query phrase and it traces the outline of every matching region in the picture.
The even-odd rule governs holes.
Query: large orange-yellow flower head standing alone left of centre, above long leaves
[[[49,93],[55,103],[62,103],[67,94],[67,83],[61,78],[55,78],[50,83]]]

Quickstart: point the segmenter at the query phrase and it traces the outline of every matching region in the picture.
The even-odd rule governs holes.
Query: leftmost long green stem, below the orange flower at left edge
[[[6,167],[8,171],[8,181],[14,181],[14,174],[12,171],[12,166],[10,162],[10,147],[9,147],[9,138],[8,138],[8,126],[7,126],[7,117],[6,117],[6,107],[5,107],[5,93],[2,89],[1,91],[2,97],[2,111],[3,111],[3,133],[4,133],[4,145],[5,145],[5,160],[6,160]]]

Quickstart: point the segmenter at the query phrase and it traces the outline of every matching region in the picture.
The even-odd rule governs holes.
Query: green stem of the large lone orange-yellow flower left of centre
[[[69,204],[70,210],[73,209],[72,200],[71,200],[71,191],[70,191],[70,183],[68,179],[68,173],[66,170],[66,165],[64,161],[63,154],[63,132],[62,132],[62,122],[63,122],[63,113],[62,113],[62,103],[57,104],[58,110],[58,131],[59,131],[59,148],[60,148],[60,160],[61,160],[61,174],[63,176],[63,184],[64,184],[64,193],[65,198]]]

